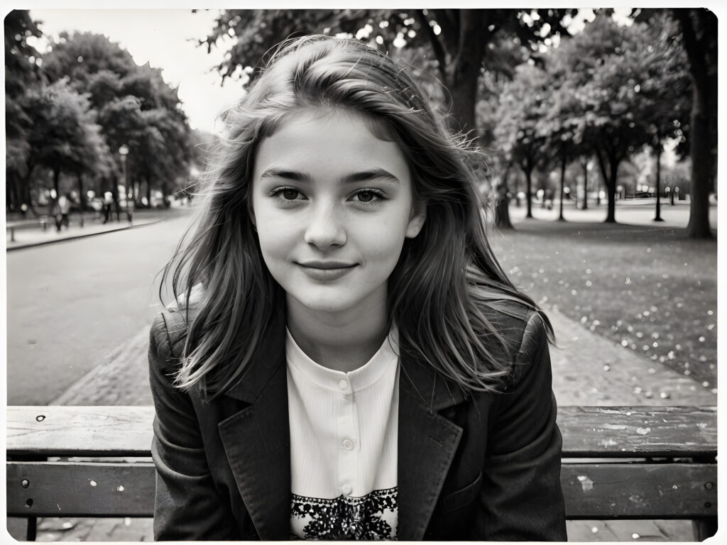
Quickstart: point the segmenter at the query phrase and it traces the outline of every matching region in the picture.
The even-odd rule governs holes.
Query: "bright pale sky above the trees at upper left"
[[[238,81],[225,81],[212,72],[224,49],[197,47],[212,31],[217,9],[31,9],[41,31],[58,36],[63,31],[89,31],[108,36],[126,49],[139,65],[161,68],[164,81],[179,86],[182,106],[194,129],[214,132],[214,121],[225,106],[241,96]],[[47,42],[33,44],[43,53]]]

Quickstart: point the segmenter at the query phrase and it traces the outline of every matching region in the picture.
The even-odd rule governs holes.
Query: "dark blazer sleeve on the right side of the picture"
[[[477,538],[566,541],[562,438],[547,334],[537,313],[528,320],[513,371],[512,391],[498,396],[491,415]]]

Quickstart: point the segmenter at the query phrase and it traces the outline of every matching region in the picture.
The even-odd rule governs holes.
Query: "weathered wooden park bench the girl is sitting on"
[[[151,517],[152,407],[9,407],[7,515]],[[717,528],[715,407],[561,407],[571,520],[686,519]],[[523,514],[526,516],[526,514]]]

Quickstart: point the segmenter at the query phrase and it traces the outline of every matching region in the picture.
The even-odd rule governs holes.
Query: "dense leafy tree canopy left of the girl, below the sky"
[[[57,193],[62,174],[75,175],[81,203],[84,176],[102,189],[143,183],[148,194],[152,186],[172,187],[175,177],[186,177],[190,128],[177,89],[161,70],[137,65],[119,44],[95,33],[62,33],[40,55],[26,41],[41,36],[40,28],[26,11],[11,12],[5,21],[9,174],[15,172],[8,206],[29,203],[37,169],[52,172]],[[122,145],[130,151],[126,170]]]

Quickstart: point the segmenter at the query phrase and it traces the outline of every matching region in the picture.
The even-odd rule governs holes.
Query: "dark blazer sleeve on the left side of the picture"
[[[171,331],[183,326],[180,312],[162,312],[149,339],[149,380],[156,409],[151,453],[156,465],[156,541],[224,540],[236,537],[230,507],[220,501],[204,451],[190,395],[172,385],[178,366]],[[181,324],[181,325],[180,325]]]

